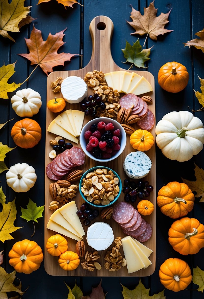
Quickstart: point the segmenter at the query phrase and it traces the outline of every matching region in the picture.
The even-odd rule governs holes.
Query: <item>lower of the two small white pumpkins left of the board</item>
[[[27,163],[17,163],[6,173],[6,182],[15,192],[26,192],[34,186],[37,176],[35,169]]]

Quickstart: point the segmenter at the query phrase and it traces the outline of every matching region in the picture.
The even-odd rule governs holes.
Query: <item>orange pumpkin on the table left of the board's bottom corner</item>
[[[30,274],[40,267],[43,260],[42,249],[34,241],[16,242],[9,251],[9,263],[16,272]]]

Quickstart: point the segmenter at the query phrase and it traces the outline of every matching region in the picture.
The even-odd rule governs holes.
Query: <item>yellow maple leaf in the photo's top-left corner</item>
[[[25,0],[12,0],[11,3],[8,0],[1,0],[0,5],[0,34],[3,37],[15,40],[8,34],[7,31],[19,32],[19,23],[22,19],[26,18],[30,12],[31,6],[24,7]]]

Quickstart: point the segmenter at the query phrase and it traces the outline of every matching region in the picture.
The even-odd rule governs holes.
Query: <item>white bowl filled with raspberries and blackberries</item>
[[[80,144],[85,154],[99,162],[117,158],[123,152],[126,141],[121,124],[106,117],[90,120],[80,134]]]

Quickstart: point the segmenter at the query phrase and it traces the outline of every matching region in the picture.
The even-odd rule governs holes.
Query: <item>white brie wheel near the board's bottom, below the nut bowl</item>
[[[113,230],[107,223],[95,222],[89,226],[86,240],[88,245],[95,250],[105,250],[114,241]]]

